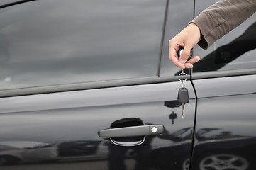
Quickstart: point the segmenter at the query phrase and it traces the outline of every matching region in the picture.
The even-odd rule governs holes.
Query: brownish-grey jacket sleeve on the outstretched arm
[[[199,45],[207,49],[255,11],[256,0],[221,0],[208,7],[190,23],[199,26],[202,35]]]

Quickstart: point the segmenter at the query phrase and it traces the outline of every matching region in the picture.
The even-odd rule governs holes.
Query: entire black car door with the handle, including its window
[[[180,70],[165,61],[169,35],[192,6],[2,5],[1,169],[189,169],[196,97],[189,76],[182,118]]]

